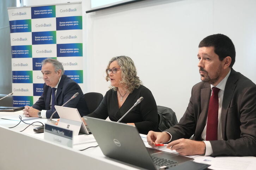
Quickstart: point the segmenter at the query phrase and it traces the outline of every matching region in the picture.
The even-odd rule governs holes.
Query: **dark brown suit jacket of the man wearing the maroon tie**
[[[210,84],[200,82],[193,86],[183,117],[166,130],[172,140],[190,138],[193,134],[194,140],[202,140],[210,96]],[[256,85],[233,69],[224,90],[221,128],[223,140],[210,141],[213,156],[256,156]]]

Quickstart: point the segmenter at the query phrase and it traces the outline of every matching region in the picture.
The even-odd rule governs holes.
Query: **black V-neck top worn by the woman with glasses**
[[[156,130],[158,127],[158,115],[156,101],[145,86],[141,85],[139,89],[134,89],[128,95],[123,105],[118,107],[117,91],[110,89],[106,92],[99,107],[89,117],[106,119],[117,122],[140,98],[144,99],[135,106],[122,120],[122,123],[135,123],[139,133],[147,134],[150,130]]]

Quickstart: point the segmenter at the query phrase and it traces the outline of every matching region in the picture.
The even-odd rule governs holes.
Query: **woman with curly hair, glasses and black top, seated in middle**
[[[135,125],[139,133],[147,134],[157,130],[158,115],[156,101],[141,80],[133,60],[126,56],[113,57],[106,69],[106,81],[110,81],[110,90],[106,92],[99,107],[89,117],[117,122],[139,99],[144,98],[122,120],[122,123]]]

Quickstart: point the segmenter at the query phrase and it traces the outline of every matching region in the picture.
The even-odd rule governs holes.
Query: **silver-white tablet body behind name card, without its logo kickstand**
[[[77,108],[63,107],[63,106],[54,106],[60,118],[74,120],[81,122],[80,132],[84,134],[89,134],[90,130],[85,126],[84,122],[81,119],[80,113]]]

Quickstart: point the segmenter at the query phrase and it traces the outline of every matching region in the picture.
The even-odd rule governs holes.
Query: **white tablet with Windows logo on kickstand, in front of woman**
[[[82,123],[79,132],[84,133],[84,134],[90,133],[90,130],[86,127],[83,120],[81,119],[80,113],[77,110],[77,108],[63,107],[63,106],[56,106],[56,105],[54,107],[55,107],[58,115],[60,116],[60,122],[58,123],[58,126],[61,126],[62,123],[65,125],[69,124],[70,122],[67,120],[73,120],[73,125],[75,125],[75,124],[80,125],[80,123]],[[72,125],[69,125],[68,127],[69,127],[69,129],[73,129]]]

